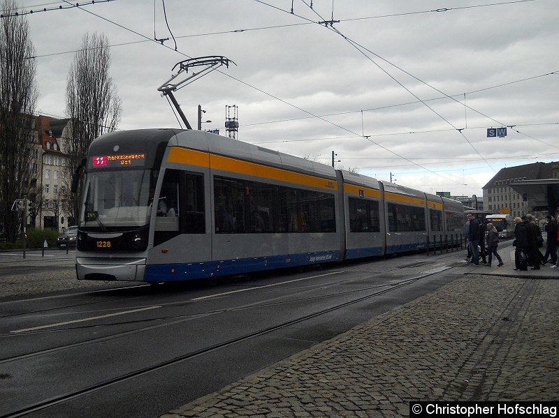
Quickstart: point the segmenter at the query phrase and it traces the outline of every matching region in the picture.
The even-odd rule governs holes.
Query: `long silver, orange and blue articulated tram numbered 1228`
[[[89,147],[79,279],[187,281],[425,249],[460,202],[199,130]]]

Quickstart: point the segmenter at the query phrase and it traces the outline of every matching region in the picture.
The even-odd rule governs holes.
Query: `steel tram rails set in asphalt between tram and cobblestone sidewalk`
[[[126,335],[129,335],[129,334],[135,334],[135,333],[140,333],[140,332],[143,332],[143,331],[147,331],[149,329],[153,329],[154,327],[166,327],[166,326],[169,326],[173,323],[184,322],[184,321],[187,321],[187,320],[191,320],[194,317],[199,318],[201,315],[216,315],[216,314],[219,314],[219,313],[224,313],[226,311],[238,311],[238,310],[242,310],[242,309],[258,308],[258,307],[263,307],[263,306],[273,306],[273,305],[277,305],[277,304],[287,304],[287,303],[293,303],[293,302],[296,302],[296,301],[305,301],[305,300],[309,300],[309,299],[320,299],[320,298],[326,298],[326,297],[333,297],[334,295],[339,296],[340,294],[347,295],[347,294],[352,294],[352,293],[362,293],[362,292],[372,291],[372,292],[368,292],[368,294],[362,295],[361,297],[356,297],[354,299],[344,301],[340,304],[335,304],[333,306],[329,306],[328,308],[324,308],[324,309],[321,309],[320,311],[309,313],[308,315],[303,315],[303,316],[300,316],[298,318],[293,318],[292,320],[287,320],[287,321],[284,321],[284,322],[281,322],[281,323],[278,323],[278,324],[273,324],[273,325],[270,325],[270,327],[264,327],[264,328],[261,328],[261,329],[258,329],[256,331],[254,331],[254,332],[249,332],[249,333],[246,333],[246,334],[242,334],[240,336],[236,336],[235,338],[230,338],[226,341],[221,341],[219,343],[209,345],[208,347],[201,348],[199,350],[193,350],[191,352],[187,352],[187,353],[182,354],[180,356],[176,356],[176,357],[173,357],[173,358],[170,358],[170,359],[166,359],[164,361],[159,361],[159,362],[157,362],[155,364],[152,364],[150,366],[145,366],[144,368],[138,368],[136,371],[131,371],[129,373],[123,373],[122,375],[118,375],[118,376],[115,376],[114,378],[102,380],[100,382],[96,382],[94,384],[87,385],[86,387],[83,387],[81,389],[76,389],[75,391],[68,391],[66,393],[59,394],[57,396],[52,396],[51,398],[45,399],[44,401],[38,401],[36,403],[29,403],[28,405],[24,405],[20,408],[17,408],[17,410],[13,410],[13,411],[5,413],[4,415],[0,415],[0,418],[23,417],[25,415],[31,414],[32,412],[37,412],[37,411],[40,411],[40,410],[46,410],[48,408],[54,407],[55,405],[59,405],[61,403],[72,401],[75,398],[79,398],[80,396],[85,396],[87,394],[92,394],[95,391],[106,389],[106,388],[111,387],[113,385],[118,385],[119,383],[126,382],[127,380],[133,380],[134,378],[139,378],[140,376],[147,375],[147,374],[153,373],[155,371],[160,371],[163,368],[173,366],[175,364],[179,364],[182,361],[195,359],[196,357],[200,357],[200,356],[203,356],[205,354],[215,352],[216,350],[221,350],[223,348],[227,348],[231,345],[242,343],[243,341],[247,341],[251,338],[256,338],[256,337],[259,337],[259,336],[270,334],[270,333],[273,333],[274,331],[277,331],[279,329],[284,329],[284,328],[290,327],[294,324],[298,324],[300,322],[305,322],[307,320],[311,320],[312,318],[317,318],[320,315],[325,315],[327,313],[337,311],[339,309],[345,308],[345,307],[350,306],[352,304],[358,304],[358,303],[361,303],[361,302],[366,301],[368,299],[378,297],[379,295],[386,294],[386,293],[389,293],[389,292],[393,292],[394,290],[397,290],[399,288],[403,288],[407,285],[415,283],[416,281],[419,281],[422,278],[432,276],[434,274],[440,273],[440,272],[445,271],[445,270],[453,269],[454,267],[456,267],[456,266],[444,266],[444,267],[440,267],[439,269],[435,269],[433,271],[427,271],[427,272],[425,272],[423,274],[419,274],[417,276],[412,276],[412,277],[409,277],[409,278],[402,279],[400,281],[385,283],[383,285],[368,286],[368,287],[365,287],[365,288],[360,287],[358,289],[346,290],[344,292],[336,292],[335,294],[334,293],[328,293],[328,294],[321,294],[321,295],[317,295],[317,296],[313,296],[313,297],[300,297],[300,298],[283,300],[283,301],[268,300],[268,301],[261,301],[260,303],[256,303],[256,304],[247,304],[247,305],[243,305],[243,306],[233,306],[233,307],[227,308],[227,309],[218,309],[218,310],[215,310],[215,311],[205,311],[205,312],[199,312],[199,313],[192,313],[192,314],[189,314],[189,315],[173,315],[173,316],[163,316],[163,317],[158,317],[158,318],[150,318],[149,319],[150,322],[157,321],[157,320],[164,320],[164,321],[171,320],[171,321],[170,322],[165,322],[164,324],[155,324],[155,325],[152,325],[151,327],[143,327],[141,329],[135,329],[135,330],[126,331],[126,332],[123,332],[123,333],[112,334],[110,336],[104,336],[104,337],[101,337],[101,338],[92,338],[88,341],[81,341],[79,343],[61,346],[59,348],[52,348],[50,350],[43,350],[43,351],[38,351],[38,352],[34,352],[34,353],[24,354],[22,356],[12,357],[10,359],[3,359],[2,361],[0,361],[0,364],[5,364],[7,362],[17,361],[17,360],[20,360],[20,359],[26,359],[26,358],[29,358],[29,357],[41,356],[43,354],[50,354],[50,353],[55,352],[55,351],[66,350],[68,348],[73,348],[73,347],[76,347],[76,346],[79,346],[79,345],[87,345],[87,344],[96,343],[96,342],[99,342],[99,341],[104,341],[104,340],[108,340],[108,339],[112,339],[112,338],[120,338],[122,336],[126,336]],[[395,270],[395,268],[394,269],[389,269],[389,271],[391,271],[391,270]],[[382,274],[382,273],[378,273],[378,274]],[[384,274],[386,274],[386,271],[384,272]],[[184,301],[177,302],[175,304],[178,304],[178,303],[184,303]],[[184,318],[182,318],[182,317],[184,317]],[[145,322],[145,320],[143,320],[143,322]],[[91,325],[91,326],[92,327],[99,327],[99,326],[102,326],[102,325],[96,324],[96,325]],[[75,327],[68,328],[68,329],[75,329]],[[57,329],[56,331],[64,331],[64,330],[66,330],[66,329]],[[42,332],[53,332],[53,331],[50,330],[50,331],[42,331]]]

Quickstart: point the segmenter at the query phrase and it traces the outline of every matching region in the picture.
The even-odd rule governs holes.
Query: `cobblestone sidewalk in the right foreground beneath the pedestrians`
[[[514,256],[513,256],[514,258]],[[168,412],[402,417],[410,401],[559,401],[559,270],[464,262],[402,308]]]

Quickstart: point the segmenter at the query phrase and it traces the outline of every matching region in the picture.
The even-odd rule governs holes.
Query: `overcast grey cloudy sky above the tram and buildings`
[[[68,70],[97,32],[122,130],[179,128],[158,87],[179,61],[223,56],[175,92],[194,128],[198,105],[222,135],[236,111],[238,140],[326,164],[334,151],[337,168],[455,196],[481,196],[504,167],[559,161],[558,0],[17,4],[34,10],[39,114],[66,117]]]

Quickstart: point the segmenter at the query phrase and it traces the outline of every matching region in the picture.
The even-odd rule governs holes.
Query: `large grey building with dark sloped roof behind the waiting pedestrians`
[[[534,214],[544,218],[559,211],[559,162],[502,168],[483,187],[484,208],[513,218]]]

